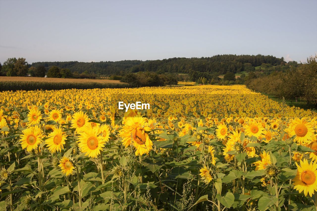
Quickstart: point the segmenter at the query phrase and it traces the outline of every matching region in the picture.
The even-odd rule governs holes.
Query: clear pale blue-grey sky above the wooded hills
[[[317,0],[0,0],[0,62],[317,53]]]

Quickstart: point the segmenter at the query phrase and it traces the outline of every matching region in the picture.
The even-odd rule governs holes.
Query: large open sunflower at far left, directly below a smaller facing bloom
[[[20,141],[22,149],[27,148],[28,152],[35,150],[37,146],[42,142],[41,129],[38,126],[32,126],[22,131],[23,135],[20,135]]]

